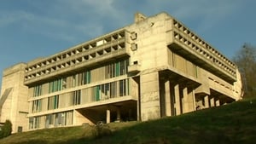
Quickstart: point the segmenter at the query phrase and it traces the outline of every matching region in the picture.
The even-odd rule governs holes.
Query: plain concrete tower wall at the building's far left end
[[[13,88],[8,95],[7,100],[3,103],[1,112],[1,122],[9,119],[13,124],[13,132],[17,132],[18,127],[26,131],[28,128],[28,89],[23,84],[26,64],[12,66],[3,72],[2,94],[5,89]]]

